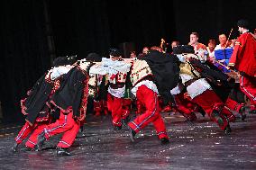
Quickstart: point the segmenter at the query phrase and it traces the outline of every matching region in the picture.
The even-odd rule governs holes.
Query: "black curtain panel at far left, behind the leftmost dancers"
[[[1,88],[4,121],[23,121],[20,99],[50,67],[42,0],[1,1]]]

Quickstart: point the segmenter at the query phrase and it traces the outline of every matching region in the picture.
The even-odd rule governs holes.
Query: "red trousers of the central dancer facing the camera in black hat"
[[[129,116],[130,113],[123,110],[123,98],[117,98],[111,94],[107,94],[107,109],[111,112],[114,126],[122,126],[121,120]]]

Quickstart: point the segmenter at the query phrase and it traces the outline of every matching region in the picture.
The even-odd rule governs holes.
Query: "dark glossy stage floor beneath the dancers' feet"
[[[10,148],[21,126],[1,126],[1,169],[256,169],[255,114],[231,123],[230,135],[199,113],[193,124],[177,113],[161,114],[170,137],[168,145],[160,145],[152,125],[132,143],[126,127],[112,129],[110,116],[91,116],[84,135],[80,133],[69,149],[70,157],[56,157],[54,148],[61,136],[46,141],[40,152],[26,151],[22,144],[13,153]]]

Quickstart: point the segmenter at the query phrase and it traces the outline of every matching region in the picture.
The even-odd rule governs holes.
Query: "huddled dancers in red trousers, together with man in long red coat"
[[[152,123],[160,144],[169,143],[160,104],[170,105],[187,121],[197,121],[195,112],[207,114],[224,133],[230,133],[230,122],[246,119],[245,104],[236,99],[238,91],[250,99],[251,113],[256,111],[255,36],[244,20],[238,28],[241,36],[233,53],[229,58],[224,54],[229,62],[207,59],[200,43],[178,45],[171,54],[154,46],[140,58],[122,58],[119,49],[111,49],[108,58],[96,53],[81,60],[56,58],[21,101],[26,122],[12,150],[29,137],[25,147],[41,151],[46,140],[63,133],[57,156],[69,156],[68,148],[86,121],[87,107],[93,107],[96,114],[110,112],[114,130],[127,126],[133,142]],[[194,34],[192,39],[197,39]],[[131,120],[133,101],[137,112]]]

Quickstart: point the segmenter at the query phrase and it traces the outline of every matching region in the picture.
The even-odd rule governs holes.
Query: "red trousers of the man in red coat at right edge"
[[[256,105],[256,78],[240,76],[240,89],[250,99],[251,105]]]

